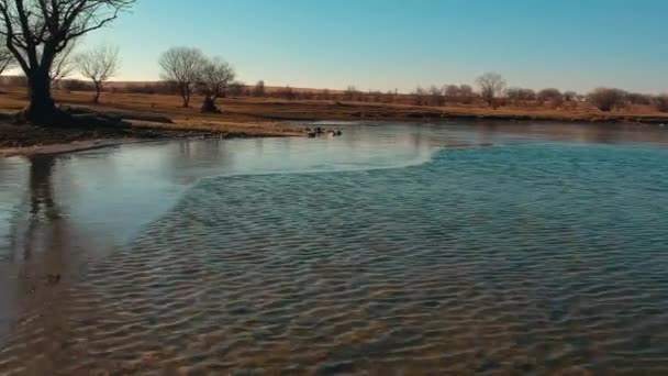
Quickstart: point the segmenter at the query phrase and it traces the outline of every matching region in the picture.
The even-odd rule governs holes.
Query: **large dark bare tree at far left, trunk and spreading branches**
[[[0,0],[0,34],[27,77],[23,117],[36,123],[60,119],[51,92],[54,59],[71,41],[100,29],[135,0]]]

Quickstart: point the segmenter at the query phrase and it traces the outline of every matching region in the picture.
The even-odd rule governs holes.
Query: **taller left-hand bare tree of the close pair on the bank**
[[[163,53],[159,64],[163,79],[174,82],[183,98],[183,107],[190,107],[190,97],[201,81],[202,69],[207,64],[204,54],[198,48],[171,47]]]

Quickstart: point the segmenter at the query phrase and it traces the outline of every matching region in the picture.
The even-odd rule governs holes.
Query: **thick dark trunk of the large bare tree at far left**
[[[37,69],[27,75],[27,93],[30,103],[22,113],[25,120],[37,124],[53,124],[57,121],[48,71]]]

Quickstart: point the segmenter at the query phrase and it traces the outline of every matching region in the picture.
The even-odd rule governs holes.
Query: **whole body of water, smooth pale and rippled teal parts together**
[[[3,161],[0,372],[668,372],[668,133],[338,126]]]

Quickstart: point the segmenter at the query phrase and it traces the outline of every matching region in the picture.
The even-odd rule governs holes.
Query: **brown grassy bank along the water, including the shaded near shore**
[[[0,157],[77,152],[136,142],[178,139],[236,139],[308,136],[308,122],[532,122],[668,126],[668,114],[647,109],[614,112],[587,108],[549,109],[472,106],[428,107],[275,98],[225,98],[221,113],[201,113],[179,107],[174,96],[104,93],[91,104],[88,93],[56,91],[57,100],[73,113],[101,115],[122,125],[49,128],[15,124],[13,113],[25,106],[24,90],[9,91],[0,100]],[[194,104],[194,103],[193,103]],[[197,104],[194,104],[197,106]],[[86,123],[85,123],[86,125]]]

